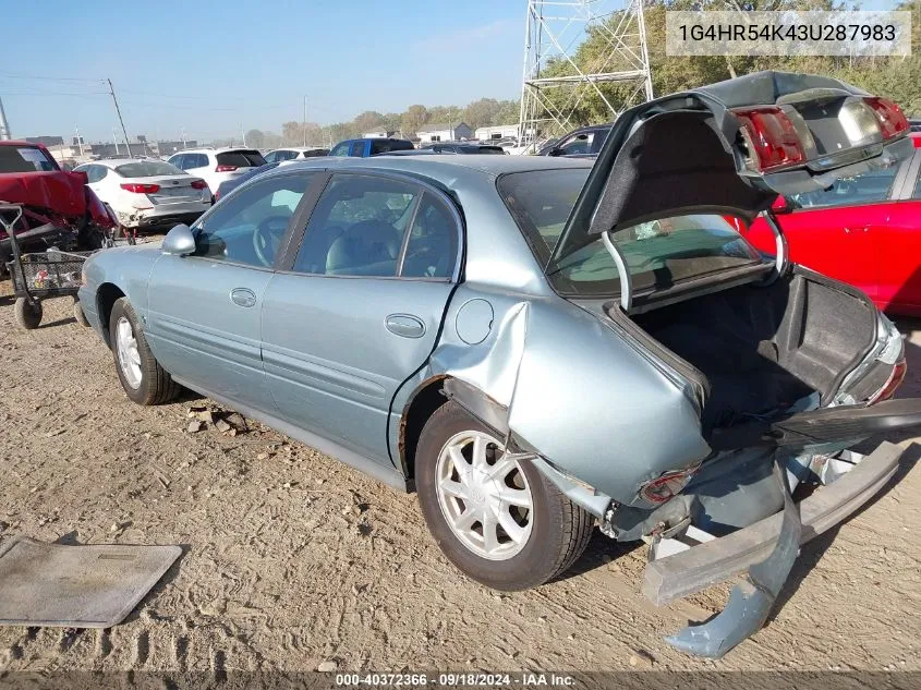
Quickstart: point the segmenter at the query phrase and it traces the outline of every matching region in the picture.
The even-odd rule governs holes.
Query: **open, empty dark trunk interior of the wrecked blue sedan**
[[[630,318],[705,379],[705,433],[775,419],[813,392],[826,404],[876,337],[865,295],[800,268]]]

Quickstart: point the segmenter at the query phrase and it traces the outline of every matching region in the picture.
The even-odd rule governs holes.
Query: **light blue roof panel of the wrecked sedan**
[[[268,174],[281,174],[291,170],[381,170],[422,174],[445,184],[466,169],[481,174],[498,177],[509,172],[534,170],[557,170],[566,168],[591,168],[592,161],[549,156],[458,156],[435,154],[432,156],[372,156],[371,158],[324,157],[292,161],[281,170]]]

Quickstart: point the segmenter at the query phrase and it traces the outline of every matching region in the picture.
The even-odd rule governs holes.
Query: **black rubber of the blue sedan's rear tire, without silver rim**
[[[496,590],[526,590],[559,576],[585,550],[595,519],[526,460],[519,464],[531,487],[533,524],[524,547],[506,560],[489,560],[469,549],[455,535],[438,504],[436,464],[446,441],[466,431],[489,433],[460,405],[447,402],[426,422],[416,448],[419,503],[436,543],[461,571]]]

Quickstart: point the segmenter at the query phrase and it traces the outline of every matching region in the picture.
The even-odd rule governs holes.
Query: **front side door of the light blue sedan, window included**
[[[272,411],[260,310],[311,175],[290,172],[241,189],[193,226],[194,254],[163,254],[154,266],[147,338],[160,364],[190,388]]]

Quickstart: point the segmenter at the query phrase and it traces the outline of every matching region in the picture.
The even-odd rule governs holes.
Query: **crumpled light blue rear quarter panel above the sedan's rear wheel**
[[[453,326],[459,305],[471,299],[488,301],[495,314],[489,334],[475,346],[463,342]],[[679,378],[561,298],[524,301],[464,283],[445,324],[428,363],[403,390],[415,391],[439,376],[462,382],[446,383],[462,407],[510,434],[520,450],[538,453],[619,504],[644,506],[637,493],[644,482],[711,452]],[[571,353],[565,367],[553,356],[561,338]],[[471,402],[476,395],[482,401]],[[392,409],[403,410],[410,399],[398,395]],[[398,432],[399,424],[392,427]],[[391,439],[392,447],[399,441]]]

